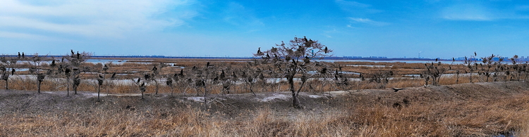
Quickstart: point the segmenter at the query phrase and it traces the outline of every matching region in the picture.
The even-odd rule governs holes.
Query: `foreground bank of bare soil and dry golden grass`
[[[521,81],[192,100],[150,94],[0,91],[0,136],[528,136],[529,86]],[[320,98],[314,98],[320,96]]]

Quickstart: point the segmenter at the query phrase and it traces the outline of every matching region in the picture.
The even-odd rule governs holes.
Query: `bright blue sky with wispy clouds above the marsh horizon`
[[[529,1],[0,1],[2,54],[252,56],[296,36],[334,56],[529,56]]]

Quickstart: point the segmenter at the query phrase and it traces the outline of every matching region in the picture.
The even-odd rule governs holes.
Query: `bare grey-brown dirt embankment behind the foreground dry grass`
[[[192,108],[209,114],[208,117],[236,121],[252,119],[255,117],[256,112],[263,109],[272,111],[271,114],[274,117],[282,117],[284,119],[296,119],[296,117],[306,114],[310,114],[317,119],[318,117],[327,117],[334,112],[356,115],[354,111],[358,107],[386,106],[400,110],[411,105],[418,106],[435,103],[467,103],[469,101],[494,103],[496,100],[509,100],[516,96],[527,95],[529,95],[529,84],[524,81],[412,87],[398,92],[394,92],[392,89],[332,91],[301,93],[300,101],[303,109],[298,109],[291,106],[291,93],[289,92],[257,93],[256,96],[252,93],[209,95],[206,98],[193,94],[182,95],[175,93],[174,96],[170,96],[170,94],[166,93],[160,95],[148,93],[145,95],[145,99],[141,99],[139,94],[116,95],[102,93],[101,101],[97,101],[97,93],[87,91],[80,91],[76,95],[70,94],[67,96],[66,91],[37,93],[37,91],[0,90],[0,116],[12,119],[32,119],[42,115],[59,115],[58,117],[61,119],[71,118],[71,115],[61,117],[65,113],[78,114],[83,117],[97,115],[99,113],[95,111],[105,110],[116,112],[116,114],[133,112],[148,115],[149,117],[166,117],[171,115],[171,113],[178,112],[178,110]],[[526,107],[528,107],[525,105],[527,103],[515,104],[511,106],[511,109],[522,109],[520,111],[525,112]],[[476,113],[479,112],[480,110],[476,111]],[[123,116],[116,115],[116,117]],[[5,124],[0,124],[0,126],[6,126]],[[490,133],[515,130],[508,128],[510,127],[509,124],[511,122],[499,124],[505,126],[504,129],[501,129],[503,126],[499,128],[503,131],[494,131],[494,129],[482,128],[482,126],[476,126],[475,128],[482,128],[481,131],[476,131],[476,133],[490,135]],[[483,127],[485,126],[483,125]],[[465,128],[468,129],[469,127]],[[16,133],[16,131],[22,129],[0,129],[0,132],[4,132],[4,134],[0,133],[0,136],[28,135]],[[456,133],[456,135],[473,135],[471,133],[465,134],[467,133],[466,131],[460,132],[460,134]],[[35,133],[29,133],[29,135],[35,135]]]

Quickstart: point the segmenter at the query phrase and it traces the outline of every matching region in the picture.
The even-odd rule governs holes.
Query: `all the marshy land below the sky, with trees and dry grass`
[[[267,51],[259,48],[255,60],[87,63],[90,53],[73,50],[60,61],[2,56],[0,85],[6,90],[0,91],[0,107],[8,109],[0,110],[0,136],[523,136],[529,131],[524,117],[529,70],[517,56],[474,54],[463,65],[318,60],[329,53],[317,41],[295,38]],[[494,82],[466,84],[482,81]],[[428,84],[433,86],[421,87]],[[69,95],[70,86],[77,95]],[[193,89],[200,98],[188,97]],[[66,96],[56,96],[63,91]],[[96,91],[97,101],[90,94]],[[142,100],[100,96],[105,91],[140,96],[139,91]],[[263,101],[265,95],[288,94],[283,91],[292,98]],[[24,102],[32,96],[42,105]],[[305,109],[293,109],[303,108],[302,101]]]

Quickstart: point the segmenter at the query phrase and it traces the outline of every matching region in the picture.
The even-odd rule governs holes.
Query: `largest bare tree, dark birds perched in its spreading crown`
[[[292,105],[300,107],[298,99],[299,92],[303,88],[306,79],[312,77],[314,74],[309,74],[310,71],[317,71],[317,63],[315,59],[321,59],[330,56],[332,50],[327,46],[320,44],[318,41],[307,39],[306,37],[294,37],[288,44],[281,42],[276,44],[268,51],[257,51],[254,56],[262,57],[264,63],[273,63],[281,77],[285,77],[288,81],[289,90],[292,93]],[[300,75],[301,84],[296,88],[294,78]]]

